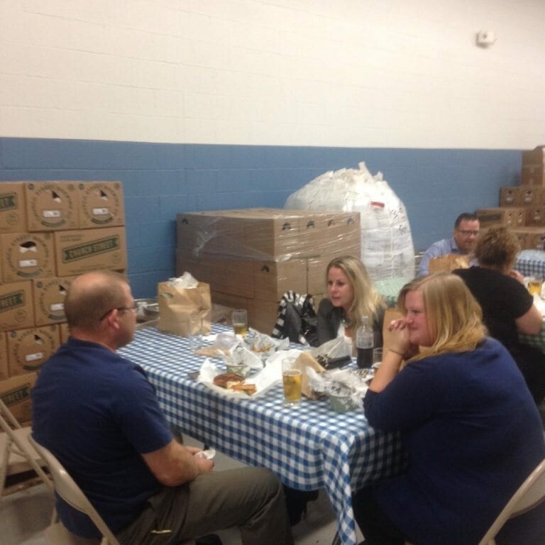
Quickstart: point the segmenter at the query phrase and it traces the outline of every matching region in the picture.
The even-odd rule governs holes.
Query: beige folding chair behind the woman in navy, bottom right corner
[[[519,490],[514,492],[488,532],[480,540],[479,545],[495,545],[495,536],[508,519],[532,510],[543,500],[545,500],[545,460],[539,463],[527,480],[520,485]]]

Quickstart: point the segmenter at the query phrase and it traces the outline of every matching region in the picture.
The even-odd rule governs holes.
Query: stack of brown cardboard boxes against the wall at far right
[[[520,185],[502,187],[500,207],[479,209],[481,228],[505,225],[525,249],[543,249],[545,240],[545,149],[522,152]]]

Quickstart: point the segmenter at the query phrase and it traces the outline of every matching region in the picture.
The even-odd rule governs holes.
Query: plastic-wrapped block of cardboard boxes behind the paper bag
[[[212,302],[248,310],[270,334],[288,290],[318,304],[338,255],[360,255],[359,212],[239,209],[177,214],[177,275],[209,283]]]

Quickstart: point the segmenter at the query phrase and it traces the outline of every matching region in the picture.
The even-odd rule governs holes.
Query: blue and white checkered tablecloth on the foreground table
[[[145,369],[167,419],[183,433],[238,461],[269,468],[292,488],[325,488],[345,545],[357,545],[352,491],[404,466],[399,436],[375,431],[363,410],[338,413],[327,400],[306,398],[295,409],[285,408],[280,377],[255,399],[222,395],[189,378],[204,358],[189,352],[187,338],[139,329],[119,353]]]

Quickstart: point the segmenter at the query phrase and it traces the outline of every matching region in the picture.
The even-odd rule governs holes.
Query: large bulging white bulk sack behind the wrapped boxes
[[[285,209],[359,211],[361,260],[373,280],[414,277],[414,247],[404,204],[382,172],[329,171],[287,198]]]

